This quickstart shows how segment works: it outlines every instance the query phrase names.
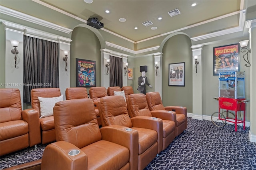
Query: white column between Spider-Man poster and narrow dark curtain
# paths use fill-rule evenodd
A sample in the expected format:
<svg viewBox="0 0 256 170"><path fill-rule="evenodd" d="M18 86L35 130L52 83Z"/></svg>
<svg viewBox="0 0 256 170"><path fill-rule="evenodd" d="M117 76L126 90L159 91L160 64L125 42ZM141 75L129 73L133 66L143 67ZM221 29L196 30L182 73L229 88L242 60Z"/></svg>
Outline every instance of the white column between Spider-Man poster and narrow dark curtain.
<svg viewBox="0 0 256 170"><path fill-rule="evenodd" d="M109 81L109 71L107 74L106 64L107 64L107 59L109 59L110 50L100 49L100 51L101 51L101 86L106 87L107 89L109 87L110 81Z"/></svg>

